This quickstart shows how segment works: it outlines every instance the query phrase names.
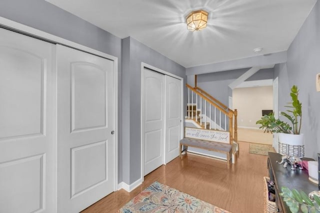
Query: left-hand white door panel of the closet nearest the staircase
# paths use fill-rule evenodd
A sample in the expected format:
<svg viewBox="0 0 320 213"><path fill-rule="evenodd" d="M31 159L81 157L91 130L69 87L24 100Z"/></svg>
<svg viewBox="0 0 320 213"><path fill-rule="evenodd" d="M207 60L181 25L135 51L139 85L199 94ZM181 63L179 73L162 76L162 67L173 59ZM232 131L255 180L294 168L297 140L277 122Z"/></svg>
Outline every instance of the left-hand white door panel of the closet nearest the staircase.
<svg viewBox="0 0 320 213"><path fill-rule="evenodd" d="M164 75L143 70L144 175L163 164Z"/></svg>

